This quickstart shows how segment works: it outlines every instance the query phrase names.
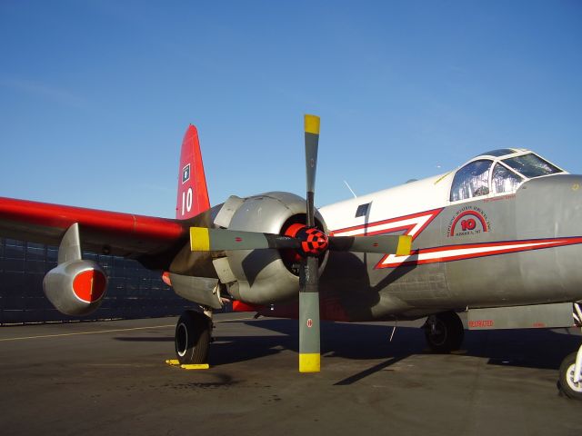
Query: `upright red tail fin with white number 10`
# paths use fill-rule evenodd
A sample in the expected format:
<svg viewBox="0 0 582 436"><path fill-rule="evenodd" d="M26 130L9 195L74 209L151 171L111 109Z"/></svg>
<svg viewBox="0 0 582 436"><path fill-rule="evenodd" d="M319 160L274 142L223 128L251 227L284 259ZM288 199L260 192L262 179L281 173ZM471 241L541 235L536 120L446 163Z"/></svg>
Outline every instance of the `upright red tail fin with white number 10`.
<svg viewBox="0 0 582 436"><path fill-rule="evenodd" d="M178 169L176 218L186 220L210 209L204 164L198 142L198 131L192 124L186 130Z"/></svg>

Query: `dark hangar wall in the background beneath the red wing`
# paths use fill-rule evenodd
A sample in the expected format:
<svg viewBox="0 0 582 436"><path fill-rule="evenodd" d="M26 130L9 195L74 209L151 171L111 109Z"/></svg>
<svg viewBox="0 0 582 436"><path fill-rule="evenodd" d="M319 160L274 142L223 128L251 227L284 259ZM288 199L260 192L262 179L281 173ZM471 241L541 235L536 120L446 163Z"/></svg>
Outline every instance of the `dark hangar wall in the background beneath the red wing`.
<svg viewBox="0 0 582 436"><path fill-rule="evenodd" d="M160 272L123 257L84 253L85 259L99 263L109 277L105 300L88 316L64 315L43 292L43 278L56 266L57 253L56 247L0 239L0 325L153 318L179 315L192 307L162 282Z"/></svg>

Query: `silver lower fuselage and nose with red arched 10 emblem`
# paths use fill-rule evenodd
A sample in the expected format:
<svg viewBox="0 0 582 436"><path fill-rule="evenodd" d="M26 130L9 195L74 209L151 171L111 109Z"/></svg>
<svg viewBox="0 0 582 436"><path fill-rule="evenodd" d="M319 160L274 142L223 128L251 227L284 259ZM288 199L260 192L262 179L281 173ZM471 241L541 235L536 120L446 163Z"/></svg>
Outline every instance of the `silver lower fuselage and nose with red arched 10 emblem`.
<svg viewBox="0 0 582 436"><path fill-rule="evenodd" d="M555 174L528 180L516 193L437 208L413 242L413 250L438 253L430 262L419 253L383 267L382 255L330 253L323 305L357 321L581 300L580 186L581 175ZM371 203L382 208L379 199ZM321 212L334 222L326 215L333 209Z"/></svg>

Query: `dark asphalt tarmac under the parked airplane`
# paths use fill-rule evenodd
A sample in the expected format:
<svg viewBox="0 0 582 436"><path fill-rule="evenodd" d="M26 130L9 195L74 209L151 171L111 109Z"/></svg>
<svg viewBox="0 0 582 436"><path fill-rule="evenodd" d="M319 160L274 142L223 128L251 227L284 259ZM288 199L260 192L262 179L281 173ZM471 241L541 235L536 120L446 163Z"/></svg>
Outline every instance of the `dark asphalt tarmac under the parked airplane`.
<svg viewBox="0 0 582 436"><path fill-rule="evenodd" d="M322 372L297 372L296 321L216 317L209 370L166 365L175 318L0 328L3 435L569 435L557 392L577 332L467 332L426 351L422 322L322 325Z"/></svg>

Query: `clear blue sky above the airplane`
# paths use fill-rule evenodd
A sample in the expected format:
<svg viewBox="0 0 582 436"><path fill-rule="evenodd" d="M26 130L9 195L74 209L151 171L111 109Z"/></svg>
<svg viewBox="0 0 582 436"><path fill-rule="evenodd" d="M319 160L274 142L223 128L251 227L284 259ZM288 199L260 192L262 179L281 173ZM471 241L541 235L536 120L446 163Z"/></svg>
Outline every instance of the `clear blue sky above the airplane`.
<svg viewBox="0 0 582 436"><path fill-rule="evenodd" d="M0 1L0 195L173 217L196 124L211 203L316 204L527 147L582 173L578 1Z"/></svg>

